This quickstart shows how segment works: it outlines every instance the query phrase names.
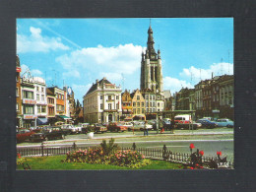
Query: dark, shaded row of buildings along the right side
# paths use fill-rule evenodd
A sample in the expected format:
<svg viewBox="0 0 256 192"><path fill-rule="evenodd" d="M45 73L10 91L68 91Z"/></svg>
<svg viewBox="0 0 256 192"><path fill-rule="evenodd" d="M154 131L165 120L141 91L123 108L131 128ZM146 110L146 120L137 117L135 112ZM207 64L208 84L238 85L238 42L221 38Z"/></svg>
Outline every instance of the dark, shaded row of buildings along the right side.
<svg viewBox="0 0 256 192"><path fill-rule="evenodd" d="M233 81L233 75L216 76L200 81L194 89L181 89L172 98L173 108L195 110L197 118L210 116L233 120Z"/></svg>

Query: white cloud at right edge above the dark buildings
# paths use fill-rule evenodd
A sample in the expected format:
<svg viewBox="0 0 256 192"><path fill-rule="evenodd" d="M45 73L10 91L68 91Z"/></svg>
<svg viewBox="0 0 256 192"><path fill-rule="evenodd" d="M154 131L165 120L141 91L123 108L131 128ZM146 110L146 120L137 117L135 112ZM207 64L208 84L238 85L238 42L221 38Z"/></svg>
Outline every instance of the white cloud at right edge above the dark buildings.
<svg viewBox="0 0 256 192"><path fill-rule="evenodd" d="M191 66L188 69L187 68L183 69L183 71L179 75L185 78L186 80L190 80L190 81L191 81L191 75L192 75L192 82L198 83L200 80L211 79L212 73L214 73L214 76L221 76L224 74L231 75L233 74L233 64L214 63L207 69L200 69L200 68Z"/></svg>

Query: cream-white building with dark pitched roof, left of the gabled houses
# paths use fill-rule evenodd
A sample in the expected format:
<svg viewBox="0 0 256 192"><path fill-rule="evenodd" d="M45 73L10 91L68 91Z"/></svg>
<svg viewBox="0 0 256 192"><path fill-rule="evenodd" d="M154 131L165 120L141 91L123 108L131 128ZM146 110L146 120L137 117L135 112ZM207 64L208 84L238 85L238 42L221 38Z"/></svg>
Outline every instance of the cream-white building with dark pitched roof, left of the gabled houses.
<svg viewBox="0 0 256 192"><path fill-rule="evenodd" d="M121 88L106 78L90 88L84 96L84 121L89 123L119 121L122 115Z"/></svg>

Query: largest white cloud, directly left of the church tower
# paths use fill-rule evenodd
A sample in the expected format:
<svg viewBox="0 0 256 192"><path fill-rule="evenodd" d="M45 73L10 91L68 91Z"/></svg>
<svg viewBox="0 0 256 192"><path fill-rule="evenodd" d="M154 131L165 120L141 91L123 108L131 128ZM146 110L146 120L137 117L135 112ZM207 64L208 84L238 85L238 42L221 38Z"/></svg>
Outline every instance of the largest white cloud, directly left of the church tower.
<svg viewBox="0 0 256 192"><path fill-rule="evenodd" d="M101 79L102 75L117 80L118 74L133 74L141 67L141 52L143 47L133 44L118 46L83 48L56 58L67 71L76 70L83 76L90 76L99 71L102 74L94 77ZM113 75L113 76L112 76Z"/></svg>

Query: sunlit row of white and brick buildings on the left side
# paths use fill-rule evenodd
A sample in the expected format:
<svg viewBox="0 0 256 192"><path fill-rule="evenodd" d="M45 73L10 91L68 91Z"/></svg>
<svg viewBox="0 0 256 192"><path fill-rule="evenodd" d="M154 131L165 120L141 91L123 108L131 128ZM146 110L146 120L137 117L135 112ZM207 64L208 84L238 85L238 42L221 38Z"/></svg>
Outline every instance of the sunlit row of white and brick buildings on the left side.
<svg viewBox="0 0 256 192"><path fill-rule="evenodd" d="M76 106L71 88L47 88L45 80L32 77L27 70L21 77L20 58L16 58L17 126L30 128L42 124L67 122L79 117L81 105ZM83 117L83 114L80 114Z"/></svg>

